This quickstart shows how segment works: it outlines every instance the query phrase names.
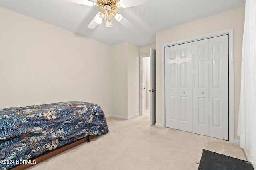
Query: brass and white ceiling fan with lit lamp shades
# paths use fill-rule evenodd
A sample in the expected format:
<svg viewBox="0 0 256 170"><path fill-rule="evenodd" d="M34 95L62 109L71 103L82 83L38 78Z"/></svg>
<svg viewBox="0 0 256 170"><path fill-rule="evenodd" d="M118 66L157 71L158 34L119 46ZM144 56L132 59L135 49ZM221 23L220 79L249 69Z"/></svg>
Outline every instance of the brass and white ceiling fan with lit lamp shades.
<svg viewBox="0 0 256 170"><path fill-rule="evenodd" d="M83 4L87 6L98 6L102 9L101 12L98 12L90 24L87 26L90 29L94 29L97 25L102 23L102 20L107 20L106 26L112 27L111 15L112 17L120 22L123 16L114 11L116 8L127 8L131 6L138 6L142 4L146 4L152 0L97 0L97 2L92 0L68 0L69 2L73 2L76 4Z"/></svg>

